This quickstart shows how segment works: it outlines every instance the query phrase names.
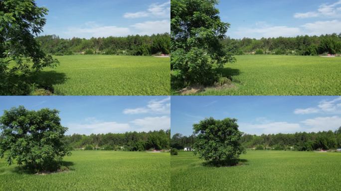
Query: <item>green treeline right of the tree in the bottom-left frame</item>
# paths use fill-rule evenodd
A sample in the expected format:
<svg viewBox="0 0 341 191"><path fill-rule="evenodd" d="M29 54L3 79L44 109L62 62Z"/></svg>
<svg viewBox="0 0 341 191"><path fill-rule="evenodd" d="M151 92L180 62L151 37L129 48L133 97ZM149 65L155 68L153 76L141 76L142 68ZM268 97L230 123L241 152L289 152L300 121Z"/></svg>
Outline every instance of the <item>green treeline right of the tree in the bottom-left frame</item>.
<svg viewBox="0 0 341 191"><path fill-rule="evenodd" d="M169 149L170 133L171 130L91 135L73 134L67 135L65 138L73 149L146 151Z"/></svg>

